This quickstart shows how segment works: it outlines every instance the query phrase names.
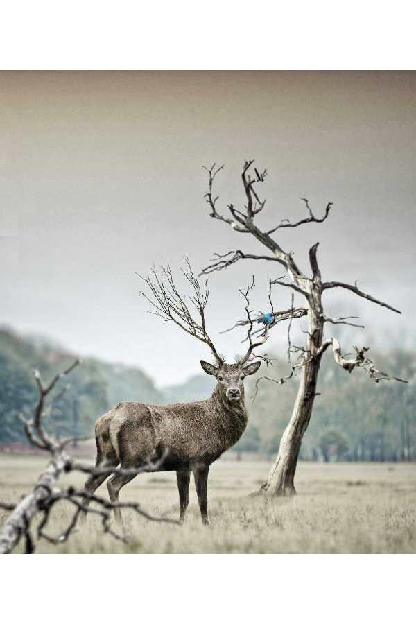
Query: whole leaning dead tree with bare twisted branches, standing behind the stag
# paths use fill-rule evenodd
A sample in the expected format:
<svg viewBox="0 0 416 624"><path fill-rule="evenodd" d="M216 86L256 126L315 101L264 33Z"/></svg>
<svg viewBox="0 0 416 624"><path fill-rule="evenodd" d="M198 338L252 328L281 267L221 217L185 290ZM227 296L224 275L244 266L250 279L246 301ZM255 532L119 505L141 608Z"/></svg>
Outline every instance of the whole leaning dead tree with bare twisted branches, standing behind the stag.
<svg viewBox="0 0 416 624"><path fill-rule="evenodd" d="M243 209L237 209L234 204L229 204L229 214L223 214L218 211L218 195L214 193L214 180L221 169L223 169L223 166L216 168L214 164L211 168L207 169L208 190L205 194L205 199L209 205L210 216L212 218L227 223L234 229L234 232L251 234L261 245L268 249L268 254L245 254L241 250L229 251L225 254L215 254L214 259L209 266L202 270L202 273L208 274L222 270L243 259L268 261L271 266L273 263L277 263L277 265L284 268L285 275L284 277L270 280L270 284L290 288L293 294L302 295L304 300L304 310L306 311L305 314L308 320L306 345L305 347L291 347L291 345L289 345L289 354L291 352L300 354L297 363L293 365L290 374L285 378L274 379L270 376L263 376L263 378L260 378L269 379L276 383L284 383L286 379L290 379L293 376L296 370L302 371L295 406L293 407L293 413L286 427L286 431L281 437L279 453L266 482L261 487L262 492L273 496L295 493L293 481L297 458L299 457L302 438L311 418L313 402L317 395L316 389L320 361L322 355L329 346L333 347L335 361L342 366L344 370L347 370L347 372L352 372L354 368L358 367L365 370L367 374L369 374L370 379L376 383L385 379L404 381L403 379L397 379L396 377L376 370L370 358L365 355L367 347L363 347L362 349L356 348L355 357L347 359L341 353L338 340L335 338L324 340L324 327L327 323L356 325L352 322L353 317L331 318L324 313L322 302L324 291L331 290L332 288L344 288L358 295L358 297L363 297L393 312L400 314L400 311L361 291L356 282L355 284L346 284L343 281L322 281L317 257L319 243L315 243L315 245L309 249L310 272L304 272L297 266L293 254L291 252L286 252L281 244L277 242L275 236L272 236L272 234L276 232L281 233L281 230L286 228L324 222L329 216L332 206L331 202L325 207L323 216L317 217L309 206L309 201L306 198L302 198L306 206L306 216L304 218L294 223L285 218L270 229L260 229L260 227L257 226L255 223L256 217L266 205L266 200L260 198L258 189L259 185L263 184L267 171L265 169L259 172L255 167L253 171L253 163L253 160L246 161L241 173L243 191L245 194L245 205ZM299 318L299 315L297 315L297 318ZM258 383L259 380L257 380L257 386Z"/></svg>

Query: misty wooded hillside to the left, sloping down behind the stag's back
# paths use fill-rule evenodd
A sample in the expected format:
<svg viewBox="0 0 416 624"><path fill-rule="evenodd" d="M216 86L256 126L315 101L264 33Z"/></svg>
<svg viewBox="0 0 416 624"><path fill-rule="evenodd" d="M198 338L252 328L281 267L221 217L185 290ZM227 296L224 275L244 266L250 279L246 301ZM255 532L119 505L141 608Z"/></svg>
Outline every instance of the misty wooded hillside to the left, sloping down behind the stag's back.
<svg viewBox="0 0 416 624"><path fill-rule="evenodd" d="M37 399L33 369L45 381L76 358L40 338L22 338L10 330L0 331L0 442L26 440L17 418L30 415ZM162 392L144 372L134 367L86 358L69 378L59 382L57 392L69 385L62 399L52 405L48 417L51 433L60 437L90 437L94 423L107 408L122 400L159 403Z"/></svg>

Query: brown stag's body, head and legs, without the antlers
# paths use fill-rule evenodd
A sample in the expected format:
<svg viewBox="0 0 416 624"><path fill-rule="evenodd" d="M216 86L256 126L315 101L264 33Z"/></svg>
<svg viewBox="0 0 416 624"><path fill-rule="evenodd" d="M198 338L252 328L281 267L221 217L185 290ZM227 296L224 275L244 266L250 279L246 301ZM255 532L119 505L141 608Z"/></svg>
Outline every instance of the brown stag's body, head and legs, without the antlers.
<svg viewBox="0 0 416 624"><path fill-rule="evenodd" d="M157 471L175 470L180 496L180 519L189 501L189 476L195 478L202 522L207 523L207 479L209 466L243 435L248 413L244 402L243 379L259 367L252 363L223 364L217 368L201 362L218 383L211 397L194 403L155 406L119 403L96 422L96 464L136 469L149 460L162 461ZM94 492L111 474L89 478L85 487ZM111 501L135 475L114 474L107 483ZM119 508L114 510L121 521Z"/></svg>

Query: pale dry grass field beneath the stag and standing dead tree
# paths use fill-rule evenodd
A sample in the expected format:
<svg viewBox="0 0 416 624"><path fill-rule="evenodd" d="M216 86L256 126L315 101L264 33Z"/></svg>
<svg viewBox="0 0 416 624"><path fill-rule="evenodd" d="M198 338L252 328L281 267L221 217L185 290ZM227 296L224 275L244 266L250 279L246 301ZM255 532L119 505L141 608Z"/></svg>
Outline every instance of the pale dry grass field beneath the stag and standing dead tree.
<svg viewBox="0 0 416 624"><path fill-rule="evenodd" d="M45 465L42 456L0 454L0 496L19 499ZM172 526L125 512L128 546L102 535L91 518L67 544L42 541L40 553L415 553L416 465L300 463L298 496L265 501L248 494L266 476L266 462L219 460L211 467L209 514L200 523L191 480L187 521ZM82 478L70 476L80 485ZM107 496L103 485L98 492ZM139 501L149 512L177 517L174 473L139 475L122 490L121 500ZM1 519L6 513L0 511ZM57 506L51 530L69 518Z"/></svg>

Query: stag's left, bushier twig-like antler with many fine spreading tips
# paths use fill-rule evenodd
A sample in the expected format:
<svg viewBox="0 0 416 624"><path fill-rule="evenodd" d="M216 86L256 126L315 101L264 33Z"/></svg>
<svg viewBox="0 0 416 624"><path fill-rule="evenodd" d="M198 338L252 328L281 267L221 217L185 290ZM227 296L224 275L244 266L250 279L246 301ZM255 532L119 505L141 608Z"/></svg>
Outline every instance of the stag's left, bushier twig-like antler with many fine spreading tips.
<svg viewBox="0 0 416 624"><path fill-rule="evenodd" d="M193 273L189 259L185 258L185 262L187 263L187 268L181 268L181 272L191 285L193 295L189 296L189 301L191 301L196 308L199 316L198 320L191 315L187 304L187 296L181 295L178 291L169 265L167 267L162 266L159 272L155 266L153 266L153 277L141 277L141 275L137 273L137 275L146 282L150 290L150 296L142 291L140 291L140 293L155 309L155 312L151 313L159 316L163 320L173 321L184 331L189 333L190 336L198 338L202 343L208 345L216 362L218 365L221 365L224 363L224 360L218 354L205 327L205 306L207 305L209 297L208 280L205 279L201 286Z"/></svg>

